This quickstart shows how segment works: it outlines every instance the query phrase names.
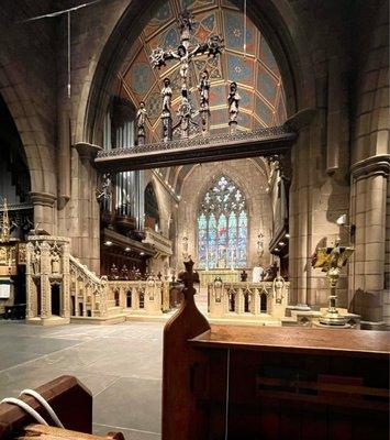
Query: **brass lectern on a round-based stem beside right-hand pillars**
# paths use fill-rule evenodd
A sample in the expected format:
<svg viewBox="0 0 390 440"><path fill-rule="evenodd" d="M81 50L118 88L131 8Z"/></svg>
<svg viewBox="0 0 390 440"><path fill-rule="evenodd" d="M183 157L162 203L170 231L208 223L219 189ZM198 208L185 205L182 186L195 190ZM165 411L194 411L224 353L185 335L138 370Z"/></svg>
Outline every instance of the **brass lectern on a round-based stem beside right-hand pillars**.
<svg viewBox="0 0 390 440"><path fill-rule="evenodd" d="M312 266L321 267L326 272L330 283L331 295L328 299L328 309L325 315L320 318L320 322L326 326L345 326L345 317L338 314L337 304L337 283L342 267L344 267L354 253L353 248L341 246L336 243L333 248L321 248L314 254Z"/></svg>

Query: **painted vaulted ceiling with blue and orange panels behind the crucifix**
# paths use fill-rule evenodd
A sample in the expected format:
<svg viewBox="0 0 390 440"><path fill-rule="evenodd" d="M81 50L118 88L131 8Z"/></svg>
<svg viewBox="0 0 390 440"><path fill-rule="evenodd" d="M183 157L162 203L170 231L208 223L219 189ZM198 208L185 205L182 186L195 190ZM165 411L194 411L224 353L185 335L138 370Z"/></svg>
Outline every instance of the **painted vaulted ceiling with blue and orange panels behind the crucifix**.
<svg viewBox="0 0 390 440"><path fill-rule="evenodd" d="M191 63L191 100L199 108L197 85L199 74L207 68L211 78L211 133L227 132L227 94L230 81L236 81L241 95L238 130L278 125L286 119L285 96L280 73L274 55L259 30L247 20L246 53L244 53L244 15L227 0L169 0L164 2L129 51L118 73L114 95L134 103L143 100L148 112L147 142L160 139L160 89L165 77L172 84L172 107L177 110L180 95L179 63L168 61L160 69L153 68L149 55L155 47L177 48L177 19L187 7L197 22L192 44L205 42L212 34L224 38L225 50L218 58L200 56ZM174 113L176 114L176 112ZM174 120L175 123L175 120Z"/></svg>

